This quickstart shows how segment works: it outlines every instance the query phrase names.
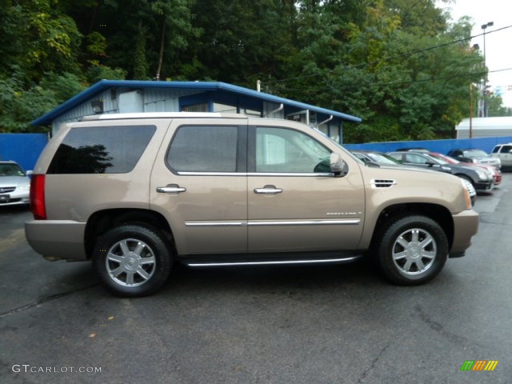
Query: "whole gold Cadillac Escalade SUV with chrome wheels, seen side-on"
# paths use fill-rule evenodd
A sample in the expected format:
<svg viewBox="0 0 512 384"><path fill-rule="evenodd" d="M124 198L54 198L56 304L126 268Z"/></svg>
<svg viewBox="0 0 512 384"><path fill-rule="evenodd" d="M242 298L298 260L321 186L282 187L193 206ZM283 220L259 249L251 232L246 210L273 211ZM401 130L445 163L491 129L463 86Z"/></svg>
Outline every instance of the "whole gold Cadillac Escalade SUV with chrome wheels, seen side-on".
<svg viewBox="0 0 512 384"><path fill-rule="evenodd" d="M91 260L121 296L189 266L372 258L392 283L460 257L478 214L452 175L365 164L301 123L222 113L97 115L64 124L31 184L32 248Z"/></svg>

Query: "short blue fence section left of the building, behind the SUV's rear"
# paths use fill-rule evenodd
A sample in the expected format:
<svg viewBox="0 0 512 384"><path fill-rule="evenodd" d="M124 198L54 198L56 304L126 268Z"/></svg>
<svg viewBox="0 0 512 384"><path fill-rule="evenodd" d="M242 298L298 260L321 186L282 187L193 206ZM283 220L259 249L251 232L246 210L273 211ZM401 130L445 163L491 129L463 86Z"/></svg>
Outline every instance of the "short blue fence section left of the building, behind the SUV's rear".
<svg viewBox="0 0 512 384"><path fill-rule="evenodd" d="M32 170L47 142L42 133L0 133L0 160L14 160Z"/></svg>

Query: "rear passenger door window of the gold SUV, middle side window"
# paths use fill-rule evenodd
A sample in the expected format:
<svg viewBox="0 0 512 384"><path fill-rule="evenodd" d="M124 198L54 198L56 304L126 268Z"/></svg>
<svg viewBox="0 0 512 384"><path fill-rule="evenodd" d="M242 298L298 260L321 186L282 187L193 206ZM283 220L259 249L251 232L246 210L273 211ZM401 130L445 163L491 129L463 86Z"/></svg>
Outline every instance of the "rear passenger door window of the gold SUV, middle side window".
<svg viewBox="0 0 512 384"><path fill-rule="evenodd" d="M167 154L177 172L237 172L238 126L183 125Z"/></svg>

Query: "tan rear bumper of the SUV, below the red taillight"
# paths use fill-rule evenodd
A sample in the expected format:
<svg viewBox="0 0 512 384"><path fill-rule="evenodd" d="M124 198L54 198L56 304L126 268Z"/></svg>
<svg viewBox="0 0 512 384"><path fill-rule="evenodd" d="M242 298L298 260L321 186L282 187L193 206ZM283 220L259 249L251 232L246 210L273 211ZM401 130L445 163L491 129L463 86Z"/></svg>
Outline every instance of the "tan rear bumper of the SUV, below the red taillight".
<svg viewBox="0 0 512 384"><path fill-rule="evenodd" d="M25 237L48 260L87 260L83 244L86 223L71 220L28 220Z"/></svg>

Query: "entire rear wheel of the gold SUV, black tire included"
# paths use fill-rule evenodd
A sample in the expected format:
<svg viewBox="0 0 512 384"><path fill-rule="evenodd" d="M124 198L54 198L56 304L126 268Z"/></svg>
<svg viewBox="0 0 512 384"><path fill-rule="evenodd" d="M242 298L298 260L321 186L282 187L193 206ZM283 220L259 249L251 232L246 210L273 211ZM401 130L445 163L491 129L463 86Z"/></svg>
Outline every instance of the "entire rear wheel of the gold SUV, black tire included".
<svg viewBox="0 0 512 384"><path fill-rule="evenodd" d="M125 224L98 239L93 264L103 285L113 294L140 297L157 292L165 284L172 254L158 230Z"/></svg>

